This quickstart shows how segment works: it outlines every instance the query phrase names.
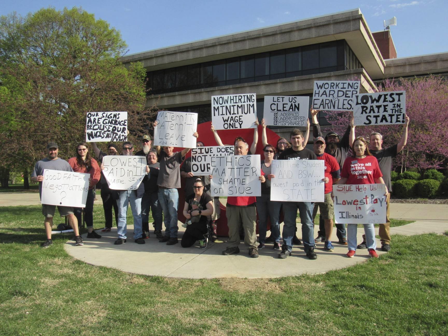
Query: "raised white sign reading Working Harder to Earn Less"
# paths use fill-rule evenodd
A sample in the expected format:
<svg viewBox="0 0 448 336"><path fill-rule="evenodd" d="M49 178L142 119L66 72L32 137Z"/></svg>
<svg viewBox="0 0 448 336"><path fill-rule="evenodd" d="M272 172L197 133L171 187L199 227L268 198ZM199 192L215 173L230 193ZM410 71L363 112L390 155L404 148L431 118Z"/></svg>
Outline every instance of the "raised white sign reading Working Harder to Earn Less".
<svg viewBox="0 0 448 336"><path fill-rule="evenodd" d="M315 81L311 108L327 111L353 111L353 96L359 93L358 81Z"/></svg>

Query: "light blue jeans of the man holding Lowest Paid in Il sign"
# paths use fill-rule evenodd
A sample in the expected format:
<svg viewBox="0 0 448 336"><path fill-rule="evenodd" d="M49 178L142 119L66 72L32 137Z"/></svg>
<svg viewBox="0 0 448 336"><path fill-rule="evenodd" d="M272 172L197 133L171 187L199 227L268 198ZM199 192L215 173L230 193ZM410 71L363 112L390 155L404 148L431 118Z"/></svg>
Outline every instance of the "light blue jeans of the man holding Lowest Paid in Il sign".
<svg viewBox="0 0 448 336"><path fill-rule="evenodd" d="M118 238L126 239L127 226L126 215L128 214L128 205L131 206L132 216L134 217L134 239L142 237L142 198L137 198L134 190L122 190L116 201L118 205Z"/></svg>

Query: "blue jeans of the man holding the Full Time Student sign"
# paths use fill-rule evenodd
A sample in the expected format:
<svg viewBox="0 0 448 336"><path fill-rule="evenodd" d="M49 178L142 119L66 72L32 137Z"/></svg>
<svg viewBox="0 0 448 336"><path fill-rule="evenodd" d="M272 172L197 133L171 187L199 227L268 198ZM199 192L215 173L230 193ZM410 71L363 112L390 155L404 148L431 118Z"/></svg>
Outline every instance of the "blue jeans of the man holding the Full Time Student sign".
<svg viewBox="0 0 448 336"><path fill-rule="evenodd" d="M314 248L313 202L283 202L283 250L293 250L293 237L296 233L297 208L302 222L302 240L305 252Z"/></svg>

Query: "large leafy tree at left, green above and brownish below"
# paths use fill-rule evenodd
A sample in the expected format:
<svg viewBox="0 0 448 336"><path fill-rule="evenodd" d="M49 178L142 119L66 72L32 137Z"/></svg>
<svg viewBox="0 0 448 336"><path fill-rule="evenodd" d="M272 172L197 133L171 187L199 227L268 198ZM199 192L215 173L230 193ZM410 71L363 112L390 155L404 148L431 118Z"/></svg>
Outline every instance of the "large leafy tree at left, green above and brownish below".
<svg viewBox="0 0 448 336"><path fill-rule="evenodd" d="M121 63L126 47L81 8L0 17L0 171L27 177L49 141L73 156L87 112L128 111L131 140L141 134L154 113L145 111L145 69Z"/></svg>

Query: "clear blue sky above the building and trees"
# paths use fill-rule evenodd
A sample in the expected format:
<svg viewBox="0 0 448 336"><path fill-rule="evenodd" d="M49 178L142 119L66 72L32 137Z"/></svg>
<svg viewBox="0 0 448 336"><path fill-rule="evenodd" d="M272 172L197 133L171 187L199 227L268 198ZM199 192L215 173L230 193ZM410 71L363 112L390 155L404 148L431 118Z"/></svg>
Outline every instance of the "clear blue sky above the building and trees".
<svg viewBox="0 0 448 336"><path fill-rule="evenodd" d="M448 52L446 0L15 0L0 14L21 15L44 7L81 6L121 31L128 54L360 8L371 31L391 28L398 57Z"/></svg>

